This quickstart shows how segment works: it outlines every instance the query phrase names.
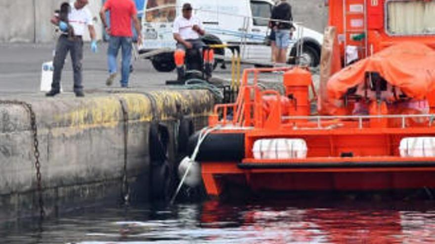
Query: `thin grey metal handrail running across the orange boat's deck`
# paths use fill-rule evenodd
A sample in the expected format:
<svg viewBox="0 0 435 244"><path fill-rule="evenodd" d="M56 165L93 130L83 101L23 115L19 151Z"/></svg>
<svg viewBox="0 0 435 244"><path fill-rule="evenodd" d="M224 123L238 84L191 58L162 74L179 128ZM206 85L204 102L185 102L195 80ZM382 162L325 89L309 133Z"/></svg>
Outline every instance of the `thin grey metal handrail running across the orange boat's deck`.
<svg viewBox="0 0 435 244"><path fill-rule="evenodd" d="M353 120L358 121L358 129L363 128L363 121L368 119L400 119L401 128L406 128L406 119L428 119L428 127L435 122L435 114L381 114L381 115L336 115L336 116L282 116L283 120L309 120L316 121L317 128L322 128L323 121Z"/></svg>

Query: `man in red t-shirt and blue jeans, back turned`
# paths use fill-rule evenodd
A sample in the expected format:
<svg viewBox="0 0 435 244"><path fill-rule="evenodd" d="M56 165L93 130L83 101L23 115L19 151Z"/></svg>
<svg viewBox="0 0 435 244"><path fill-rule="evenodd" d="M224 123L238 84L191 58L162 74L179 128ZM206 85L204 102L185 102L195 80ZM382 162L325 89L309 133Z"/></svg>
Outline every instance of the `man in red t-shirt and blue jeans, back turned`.
<svg viewBox="0 0 435 244"><path fill-rule="evenodd" d="M106 12L110 12L110 27L107 26ZM137 42L140 45L140 24L137 19L137 10L133 0L107 0L100 11L101 21L103 22L106 33L110 35L109 47L107 50L107 62L109 66L109 78L106 85L110 86L116 77L118 51L122 49L122 77L121 87L129 86L130 62L131 62L131 42L133 32L131 22L137 35Z"/></svg>

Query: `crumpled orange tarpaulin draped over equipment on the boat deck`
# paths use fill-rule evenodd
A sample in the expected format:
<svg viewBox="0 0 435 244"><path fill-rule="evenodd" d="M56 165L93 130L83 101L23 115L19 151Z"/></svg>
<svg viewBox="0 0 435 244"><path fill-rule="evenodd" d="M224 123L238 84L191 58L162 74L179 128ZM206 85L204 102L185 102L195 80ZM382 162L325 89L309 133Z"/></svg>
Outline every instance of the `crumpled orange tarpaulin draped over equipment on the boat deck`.
<svg viewBox="0 0 435 244"><path fill-rule="evenodd" d="M349 88L364 82L366 72L378 72L410 98L431 100L430 92L435 90L435 50L418 42L388 47L335 73L328 81L329 97L342 98Z"/></svg>

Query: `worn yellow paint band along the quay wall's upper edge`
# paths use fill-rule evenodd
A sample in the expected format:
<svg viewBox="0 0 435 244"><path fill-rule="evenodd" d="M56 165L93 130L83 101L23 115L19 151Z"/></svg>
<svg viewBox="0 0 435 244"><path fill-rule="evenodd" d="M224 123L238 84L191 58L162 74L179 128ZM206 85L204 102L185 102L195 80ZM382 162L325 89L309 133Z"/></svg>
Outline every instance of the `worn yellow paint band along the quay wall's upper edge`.
<svg viewBox="0 0 435 244"><path fill-rule="evenodd" d="M160 115L158 120L174 119L176 116L176 104L181 105L181 110L197 105L211 103L211 96L207 91L155 91L150 96L155 101L155 107L149 98L143 94L119 93L107 97L87 98L76 109L66 113L54 115L56 123L68 124L69 127L80 130L95 127L116 127L123 121L120 99L127 105L129 120L146 122L153 119L153 109ZM210 106L195 114L207 116L211 113Z"/></svg>

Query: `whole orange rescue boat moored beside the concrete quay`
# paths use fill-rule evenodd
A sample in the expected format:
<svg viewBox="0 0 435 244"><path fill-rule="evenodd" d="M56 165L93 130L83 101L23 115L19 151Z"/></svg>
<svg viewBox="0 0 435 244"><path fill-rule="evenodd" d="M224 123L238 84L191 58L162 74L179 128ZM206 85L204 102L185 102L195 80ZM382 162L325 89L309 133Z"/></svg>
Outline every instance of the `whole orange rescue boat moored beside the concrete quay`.
<svg viewBox="0 0 435 244"><path fill-rule="evenodd" d="M435 187L435 0L325 3L335 36L319 112L308 70L244 70L235 103L191 140L209 195ZM272 71L284 94L259 86Z"/></svg>

